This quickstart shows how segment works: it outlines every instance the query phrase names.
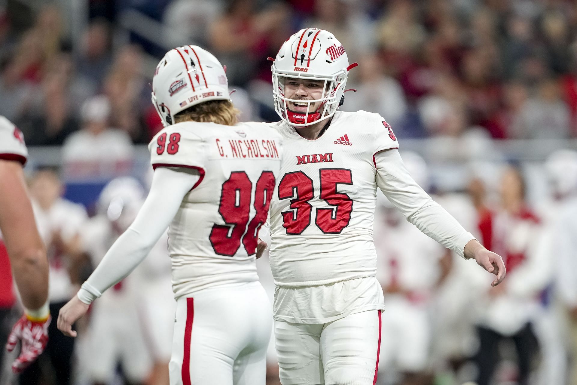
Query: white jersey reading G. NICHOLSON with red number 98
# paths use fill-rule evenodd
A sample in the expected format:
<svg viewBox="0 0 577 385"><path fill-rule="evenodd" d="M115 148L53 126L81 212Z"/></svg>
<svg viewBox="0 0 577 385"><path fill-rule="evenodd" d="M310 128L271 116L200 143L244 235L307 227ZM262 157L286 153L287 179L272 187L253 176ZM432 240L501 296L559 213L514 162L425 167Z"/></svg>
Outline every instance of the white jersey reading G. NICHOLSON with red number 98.
<svg viewBox="0 0 577 385"><path fill-rule="evenodd" d="M168 230L175 297L257 281L258 230L266 222L282 139L264 123L181 122L149 144L152 167L195 169L200 179Z"/></svg>

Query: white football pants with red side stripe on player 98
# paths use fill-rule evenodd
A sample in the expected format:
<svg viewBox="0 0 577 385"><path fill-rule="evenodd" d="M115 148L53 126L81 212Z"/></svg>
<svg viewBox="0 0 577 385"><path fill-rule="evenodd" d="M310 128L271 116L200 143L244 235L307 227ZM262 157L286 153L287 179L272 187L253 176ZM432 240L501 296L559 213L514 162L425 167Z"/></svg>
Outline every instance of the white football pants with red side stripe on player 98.
<svg viewBox="0 0 577 385"><path fill-rule="evenodd" d="M272 309L260 282L177 301L171 385L264 385Z"/></svg>

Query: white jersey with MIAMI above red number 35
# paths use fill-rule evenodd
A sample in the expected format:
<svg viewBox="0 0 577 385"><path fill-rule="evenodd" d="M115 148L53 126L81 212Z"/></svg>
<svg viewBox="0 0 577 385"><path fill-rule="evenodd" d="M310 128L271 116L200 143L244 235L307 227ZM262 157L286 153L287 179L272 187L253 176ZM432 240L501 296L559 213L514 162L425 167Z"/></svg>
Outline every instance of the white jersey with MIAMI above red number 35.
<svg viewBox="0 0 577 385"><path fill-rule="evenodd" d="M279 287L327 285L374 276L376 167L373 155L398 148L379 114L337 111L319 139L284 122L284 160L271 205L271 268Z"/></svg>

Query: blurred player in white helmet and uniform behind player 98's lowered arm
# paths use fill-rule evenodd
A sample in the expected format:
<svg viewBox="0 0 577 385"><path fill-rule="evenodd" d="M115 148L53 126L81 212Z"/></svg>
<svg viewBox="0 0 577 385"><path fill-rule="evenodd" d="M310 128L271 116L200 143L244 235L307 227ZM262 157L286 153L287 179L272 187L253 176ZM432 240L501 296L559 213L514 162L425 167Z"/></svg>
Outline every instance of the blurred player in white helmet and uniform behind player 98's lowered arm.
<svg viewBox="0 0 577 385"><path fill-rule="evenodd" d="M81 231L81 247L93 266L98 266L110 246L128 229L143 200L144 189L132 177L116 178L104 187L98 199L98 214ZM89 356L84 354L83 367L95 385L112 382L118 364L129 384L142 384L147 379L151 359L143 331L145 317L138 309L140 291L147 282L139 279L137 271L93 305L85 346Z"/></svg>

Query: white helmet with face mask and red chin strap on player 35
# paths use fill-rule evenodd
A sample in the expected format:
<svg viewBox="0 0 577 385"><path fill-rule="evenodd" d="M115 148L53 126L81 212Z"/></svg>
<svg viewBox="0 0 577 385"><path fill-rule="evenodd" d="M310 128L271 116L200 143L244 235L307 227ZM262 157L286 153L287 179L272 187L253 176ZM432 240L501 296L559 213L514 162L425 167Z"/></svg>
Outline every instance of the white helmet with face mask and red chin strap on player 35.
<svg viewBox="0 0 577 385"><path fill-rule="evenodd" d="M272 58L269 58L272 59ZM349 70L357 63L349 65L343 45L328 31L319 28L305 28L288 38L280 47L272 63L272 87L275 110L284 122L291 126L304 127L328 119L344 102L344 86ZM286 79L324 80L321 99L295 100L284 97ZM316 111L299 113L288 110L287 102L321 102Z"/></svg>

